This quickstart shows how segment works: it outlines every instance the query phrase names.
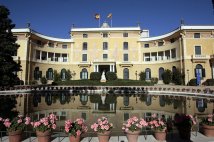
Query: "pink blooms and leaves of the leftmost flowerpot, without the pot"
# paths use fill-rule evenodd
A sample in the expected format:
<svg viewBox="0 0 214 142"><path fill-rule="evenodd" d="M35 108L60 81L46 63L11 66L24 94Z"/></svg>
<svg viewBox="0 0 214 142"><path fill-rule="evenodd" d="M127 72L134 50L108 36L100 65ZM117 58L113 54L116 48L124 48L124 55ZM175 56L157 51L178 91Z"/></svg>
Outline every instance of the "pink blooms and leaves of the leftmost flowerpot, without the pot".
<svg viewBox="0 0 214 142"><path fill-rule="evenodd" d="M18 115L17 117L14 117L12 121L10 121L9 118L2 119L0 117L0 121L4 124L8 132L12 131L23 131L27 125L30 124L30 117L23 117L22 115Z"/></svg>

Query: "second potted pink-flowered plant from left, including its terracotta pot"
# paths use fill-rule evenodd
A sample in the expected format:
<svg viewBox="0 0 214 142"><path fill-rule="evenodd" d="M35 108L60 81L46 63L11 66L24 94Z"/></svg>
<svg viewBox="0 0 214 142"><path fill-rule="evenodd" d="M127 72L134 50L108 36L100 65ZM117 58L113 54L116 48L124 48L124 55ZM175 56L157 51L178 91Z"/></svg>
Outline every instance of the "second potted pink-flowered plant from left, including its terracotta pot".
<svg viewBox="0 0 214 142"><path fill-rule="evenodd" d="M51 132L56 129L56 116L50 114L47 117L43 117L38 121L31 122L36 135L38 142L50 142Z"/></svg>

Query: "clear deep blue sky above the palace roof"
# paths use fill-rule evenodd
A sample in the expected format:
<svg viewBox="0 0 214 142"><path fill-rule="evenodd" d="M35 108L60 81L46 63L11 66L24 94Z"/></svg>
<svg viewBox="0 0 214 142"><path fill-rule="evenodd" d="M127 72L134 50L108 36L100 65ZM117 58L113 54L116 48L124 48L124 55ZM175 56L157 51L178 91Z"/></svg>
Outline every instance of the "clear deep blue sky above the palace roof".
<svg viewBox="0 0 214 142"><path fill-rule="evenodd" d="M140 22L150 36L168 33L186 25L214 25L212 0L1 0L11 12L16 28L31 27L44 35L69 38L76 27L98 27L112 13L113 27L133 27Z"/></svg>

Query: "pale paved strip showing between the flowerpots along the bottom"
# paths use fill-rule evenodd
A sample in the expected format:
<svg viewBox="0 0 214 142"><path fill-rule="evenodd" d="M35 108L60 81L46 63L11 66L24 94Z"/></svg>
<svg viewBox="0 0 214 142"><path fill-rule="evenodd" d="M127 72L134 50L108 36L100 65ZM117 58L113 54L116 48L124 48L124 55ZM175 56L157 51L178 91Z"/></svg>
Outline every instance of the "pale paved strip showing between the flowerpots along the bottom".
<svg viewBox="0 0 214 142"><path fill-rule="evenodd" d="M191 134L192 142L214 142L214 137L206 137L201 133L192 132ZM1 142L9 142L8 137L2 137ZM38 142L36 137L31 137L23 142ZM51 142L69 142L68 137L57 137L53 139ZM81 142L99 142L97 137L86 137L81 140ZM112 136L109 142L128 142L126 136ZM153 135L140 135L138 138L138 142L157 142ZM166 142L185 142L184 140L180 139L178 134L169 134L167 135Z"/></svg>

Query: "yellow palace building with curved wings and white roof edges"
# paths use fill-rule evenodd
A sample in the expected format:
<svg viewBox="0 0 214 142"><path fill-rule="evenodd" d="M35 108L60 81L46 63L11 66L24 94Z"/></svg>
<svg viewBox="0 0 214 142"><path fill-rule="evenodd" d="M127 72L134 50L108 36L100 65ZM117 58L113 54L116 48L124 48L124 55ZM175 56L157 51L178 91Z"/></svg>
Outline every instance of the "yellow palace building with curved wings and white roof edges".
<svg viewBox="0 0 214 142"><path fill-rule="evenodd" d="M13 29L20 45L14 60L20 60L18 76L25 84L40 83L45 76L53 81L57 70L65 79L90 79L91 72L115 72L120 79L158 78L164 70L179 69L185 83L201 76L201 82L214 77L214 26L181 25L170 33L150 37L140 27L72 27L69 39L45 36L30 28Z"/></svg>

